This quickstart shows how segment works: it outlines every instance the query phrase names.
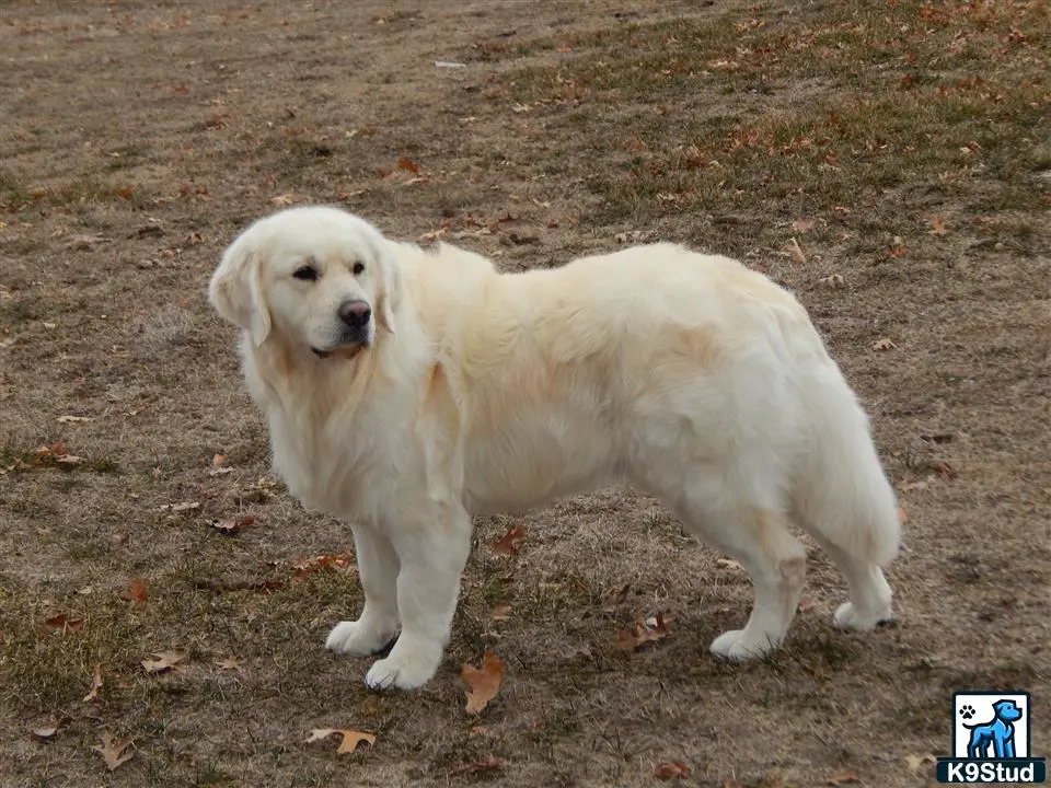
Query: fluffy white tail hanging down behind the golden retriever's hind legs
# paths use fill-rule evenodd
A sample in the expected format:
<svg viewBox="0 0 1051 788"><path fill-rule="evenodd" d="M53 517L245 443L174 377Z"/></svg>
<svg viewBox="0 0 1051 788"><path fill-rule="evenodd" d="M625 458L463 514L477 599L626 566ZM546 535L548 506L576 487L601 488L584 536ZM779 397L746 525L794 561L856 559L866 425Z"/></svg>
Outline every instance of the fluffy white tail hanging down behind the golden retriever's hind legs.
<svg viewBox="0 0 1051 788"><path fill-rule="evenodd" d="M866 563L898 554L898 501L873 442L868 417L835 363L824 355L809 375L810 441L797 468L796 514L811 532Z"/></svg>

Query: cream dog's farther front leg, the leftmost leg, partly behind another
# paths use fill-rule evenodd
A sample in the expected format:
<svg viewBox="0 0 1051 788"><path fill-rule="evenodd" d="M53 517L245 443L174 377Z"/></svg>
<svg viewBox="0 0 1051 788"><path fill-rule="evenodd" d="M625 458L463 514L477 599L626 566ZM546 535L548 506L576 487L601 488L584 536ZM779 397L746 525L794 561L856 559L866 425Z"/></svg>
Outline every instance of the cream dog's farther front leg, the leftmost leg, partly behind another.
<svg viewBox="0 0 1051 788"><path fill-rule="evenodd" d="M365 609L354 622L339 622L325 648L363 657L381 650L397 633L399 560L390 541L366 525L351 525Z"/></svg>

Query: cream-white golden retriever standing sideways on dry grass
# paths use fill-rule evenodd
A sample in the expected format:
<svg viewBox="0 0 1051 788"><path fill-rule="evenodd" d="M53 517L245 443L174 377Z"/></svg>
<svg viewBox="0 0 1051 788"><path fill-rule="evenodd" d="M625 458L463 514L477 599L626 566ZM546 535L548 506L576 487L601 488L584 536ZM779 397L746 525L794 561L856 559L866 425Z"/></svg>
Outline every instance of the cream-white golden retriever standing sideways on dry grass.
<svg viewBox="0 0 1051 788"><path fill-rule="evenodd" d="M626 484L736 558L755 601L712 652L784 639L809 533L845 576L841 628L892 617L897 501L867 415L807 312L759 273L671 243L500 274L337 208L261 218L208 286L241 329L275 472L347 521L365 592L325 646L370 687L440 667L472 515Z"/></svg>

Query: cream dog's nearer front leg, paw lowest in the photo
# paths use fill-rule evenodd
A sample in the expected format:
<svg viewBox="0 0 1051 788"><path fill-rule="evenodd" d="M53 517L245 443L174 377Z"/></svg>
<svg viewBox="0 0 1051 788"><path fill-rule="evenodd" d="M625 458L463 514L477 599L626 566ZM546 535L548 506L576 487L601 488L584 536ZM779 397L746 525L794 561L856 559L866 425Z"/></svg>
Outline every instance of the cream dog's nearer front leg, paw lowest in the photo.
<svg viewBox="0 0 1051 788"><path fill-rule="evenodd" d="M428 503L420 510L429 517L414 517L392 529L391 543L401 561L402 634L390 656L366 675L365 683L372 688L423 686L437 672L449 642L460 577L471 549L471 518L458 503Z"/></svg>

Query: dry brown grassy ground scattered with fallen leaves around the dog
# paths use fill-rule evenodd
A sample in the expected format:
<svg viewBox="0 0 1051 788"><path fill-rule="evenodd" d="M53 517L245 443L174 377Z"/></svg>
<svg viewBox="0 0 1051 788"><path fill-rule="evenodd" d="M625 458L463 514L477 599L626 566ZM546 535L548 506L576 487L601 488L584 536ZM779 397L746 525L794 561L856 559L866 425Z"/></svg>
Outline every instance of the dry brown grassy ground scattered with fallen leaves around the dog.
<svg viewBox="0 0 1051 788"><path fill-rule="evenodd" d="M933 784L966 688L1032 692L1049 754L1049 40L1044 4L1004 0L4 3L0 785L634 786L678 762L896 788ZM438 676L367 691L368 660L322 649L361 604L349 534L268 476L206 301L246 222L305 202L507 270L665 239L792 288L908 513L897 625L833 630L811 549L784 648L717 663L747 579L605 490L480 520ZM667 637L616 648L658 613ZM469 716L486 649L506 681ZM103 734L134 740L112 773Z"/></svg>

